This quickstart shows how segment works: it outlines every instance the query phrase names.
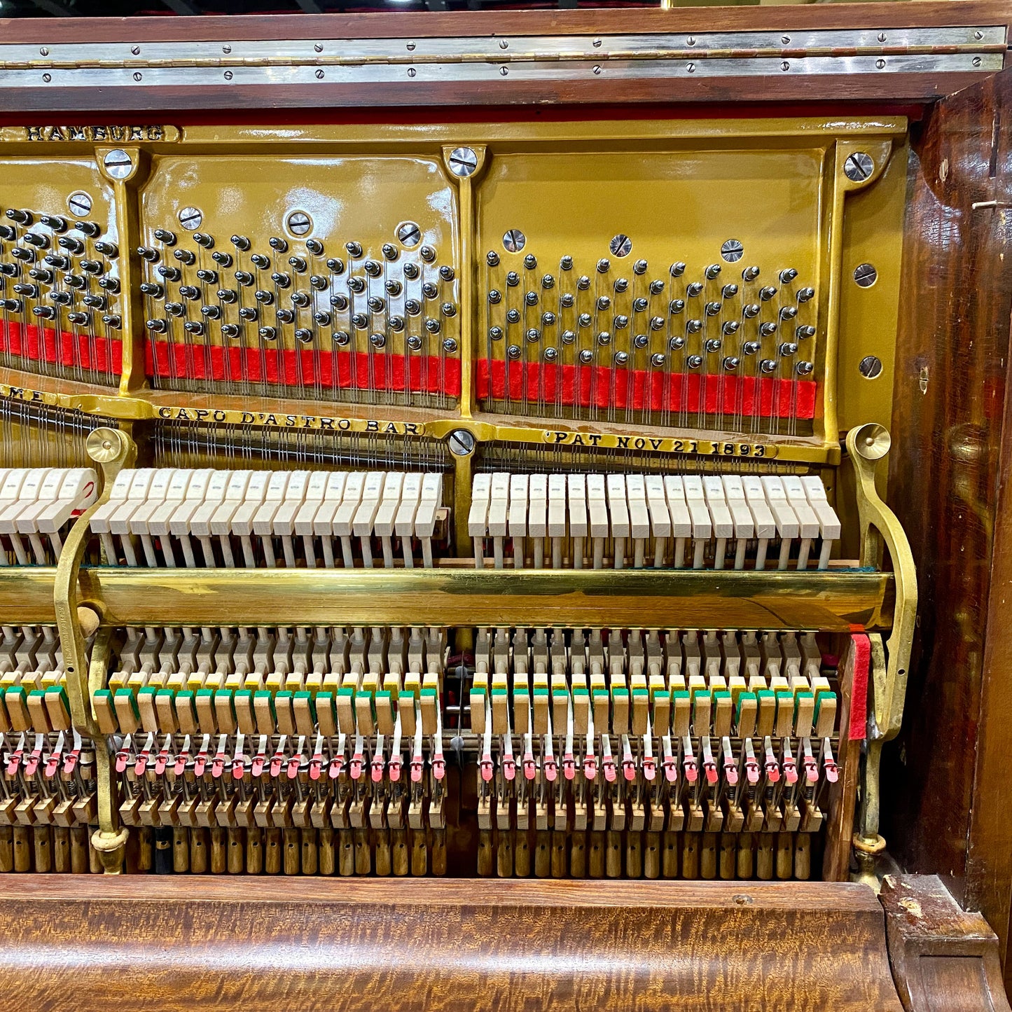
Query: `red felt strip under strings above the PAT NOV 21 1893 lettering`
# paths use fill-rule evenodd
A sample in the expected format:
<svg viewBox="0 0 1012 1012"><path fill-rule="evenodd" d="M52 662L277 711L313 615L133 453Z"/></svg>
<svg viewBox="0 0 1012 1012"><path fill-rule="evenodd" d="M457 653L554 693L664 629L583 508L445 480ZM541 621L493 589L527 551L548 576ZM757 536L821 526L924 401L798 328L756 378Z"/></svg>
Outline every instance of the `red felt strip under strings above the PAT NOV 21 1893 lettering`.
<svg viewBox="0 0 1012 1012"><path fill-rule="evenodd" d="M616 370L604 365L553 362L476 362L480 399L546 401L580 407L632 408L651 411L699 411L706 414L755 415L811 419L816 412L813 381L772 376L664 373L648 369ZM756 396L759 404L756 410Z"/></svg>

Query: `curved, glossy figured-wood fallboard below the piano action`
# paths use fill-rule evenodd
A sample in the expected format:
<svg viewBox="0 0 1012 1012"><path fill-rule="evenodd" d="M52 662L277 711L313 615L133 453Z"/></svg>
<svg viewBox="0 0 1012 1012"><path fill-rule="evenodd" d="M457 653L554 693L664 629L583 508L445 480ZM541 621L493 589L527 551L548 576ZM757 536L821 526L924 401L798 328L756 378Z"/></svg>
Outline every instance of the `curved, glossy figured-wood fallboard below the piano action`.
<svg viewBox="0 0 1012 1012"><path fill-rule="evenodd" d="M850 883L0 880L0 1009L899 1012Z"/></svg>

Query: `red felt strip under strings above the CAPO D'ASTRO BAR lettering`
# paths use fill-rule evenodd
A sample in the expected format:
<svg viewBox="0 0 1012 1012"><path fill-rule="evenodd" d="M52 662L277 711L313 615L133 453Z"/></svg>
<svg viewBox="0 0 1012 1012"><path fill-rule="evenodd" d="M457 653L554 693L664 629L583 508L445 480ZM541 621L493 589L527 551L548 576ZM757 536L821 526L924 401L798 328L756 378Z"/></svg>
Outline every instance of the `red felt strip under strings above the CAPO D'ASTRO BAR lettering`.
<svg viewBox="0 0 1012 1012"><path fill-rule="evenodd" d="M149 341L145 348L145 370L149 376L171 378L460 396L460 359L436 355L405 358L355 351L222 348L169 341L156 341L152 347Z"/></svg>

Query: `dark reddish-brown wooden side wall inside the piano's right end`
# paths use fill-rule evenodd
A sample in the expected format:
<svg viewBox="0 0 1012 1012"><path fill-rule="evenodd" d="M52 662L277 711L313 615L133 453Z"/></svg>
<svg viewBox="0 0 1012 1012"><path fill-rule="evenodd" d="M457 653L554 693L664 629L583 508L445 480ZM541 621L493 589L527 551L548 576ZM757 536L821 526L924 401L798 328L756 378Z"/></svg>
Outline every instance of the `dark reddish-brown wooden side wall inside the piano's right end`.
<svg viewBox="0 0 1012 1012"><path fill-rule="evenodd" d="M1004 944L1012 72L939 103L915 128L913 152L890 489L917 562L920 616L904 730L883 756L882 833L901 866L942 875ZM984 201L1006 206L973 206Z"/></svg>

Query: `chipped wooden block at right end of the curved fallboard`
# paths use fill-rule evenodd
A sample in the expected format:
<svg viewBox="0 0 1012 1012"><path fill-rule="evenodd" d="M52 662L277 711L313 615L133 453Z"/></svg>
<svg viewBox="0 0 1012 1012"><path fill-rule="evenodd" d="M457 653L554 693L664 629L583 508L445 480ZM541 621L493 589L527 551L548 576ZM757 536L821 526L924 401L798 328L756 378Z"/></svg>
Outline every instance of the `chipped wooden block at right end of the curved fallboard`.
<svg viewBox="0 0 1012 1012"><path fill-rule="evenodd" d="M879 899L908 1012L1010 1012L997 936L980 914L959 908L937 875L887 875Z"/></svg>

